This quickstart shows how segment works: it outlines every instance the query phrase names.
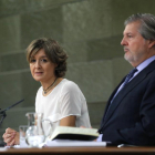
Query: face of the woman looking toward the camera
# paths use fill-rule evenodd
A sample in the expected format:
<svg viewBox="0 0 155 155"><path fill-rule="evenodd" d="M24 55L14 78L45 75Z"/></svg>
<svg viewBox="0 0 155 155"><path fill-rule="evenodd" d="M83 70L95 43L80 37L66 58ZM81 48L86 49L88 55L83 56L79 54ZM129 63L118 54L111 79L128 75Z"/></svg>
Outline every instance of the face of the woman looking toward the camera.
<svg viewBox="0 0 155 155"><path fill-rule="evenodd" d="M30 59L31 74L35 81L40 81L41 83L48 83L55 79L55 66L56 64L49 60L43 49L39 50L37 54Z"/></svg>

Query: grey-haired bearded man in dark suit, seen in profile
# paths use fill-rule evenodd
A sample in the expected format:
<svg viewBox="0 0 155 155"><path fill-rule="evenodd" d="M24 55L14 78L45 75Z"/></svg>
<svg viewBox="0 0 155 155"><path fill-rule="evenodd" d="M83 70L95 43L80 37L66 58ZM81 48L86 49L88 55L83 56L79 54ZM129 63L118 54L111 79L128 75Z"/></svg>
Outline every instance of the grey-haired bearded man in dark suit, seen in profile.
<svg viewBox="0 0 155 155"><path fill-rule="evenodd" d="M114 90L99 130L112 144L155 145L155 17L133 14L121 44L136 72Z"/></svg>

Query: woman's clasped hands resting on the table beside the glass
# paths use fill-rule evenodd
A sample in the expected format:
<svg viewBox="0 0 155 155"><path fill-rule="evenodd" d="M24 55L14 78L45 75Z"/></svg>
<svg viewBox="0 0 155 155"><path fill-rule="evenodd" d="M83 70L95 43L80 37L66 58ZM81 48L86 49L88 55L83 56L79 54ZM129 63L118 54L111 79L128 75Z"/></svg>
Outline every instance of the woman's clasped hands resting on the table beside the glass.
<svg viewBox="0 0 155 155"><path fill-rule="evenodd" d="M19 145L19 133L12 128L7 128L2 137L7 146Z"/></svg>

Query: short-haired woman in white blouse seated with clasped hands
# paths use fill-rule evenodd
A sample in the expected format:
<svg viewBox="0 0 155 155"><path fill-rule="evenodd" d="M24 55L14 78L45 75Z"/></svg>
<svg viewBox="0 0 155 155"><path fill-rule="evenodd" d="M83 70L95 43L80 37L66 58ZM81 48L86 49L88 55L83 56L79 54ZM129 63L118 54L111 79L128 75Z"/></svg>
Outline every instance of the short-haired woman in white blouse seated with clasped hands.
<svg viewBox="0 0 155 155"><path fill-rule="evenodd" d="M85 97L79 86L66 79L68 55L52 39L41 38L30 43L27 60L33 79L41 83L35 97L35 112L43 113L52 123L52 132L61 126L91 127ZM45 132L50 132L46 122ZM19 133L7 128L3 134L7 145L19 144Z"/></svg>

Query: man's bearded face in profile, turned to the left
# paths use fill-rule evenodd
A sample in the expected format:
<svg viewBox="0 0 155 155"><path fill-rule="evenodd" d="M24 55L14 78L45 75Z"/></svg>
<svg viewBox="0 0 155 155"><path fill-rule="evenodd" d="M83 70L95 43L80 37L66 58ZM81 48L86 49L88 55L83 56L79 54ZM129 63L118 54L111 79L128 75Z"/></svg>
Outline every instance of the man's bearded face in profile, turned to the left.
<svg viewBox="0 0 155 155"><path fill-rule="evenodd" d="M137 66L148 59L148 40L145 40L138 32L141 23L138 21L128 23L125 27L121 44L124 46L124 58L133 66Z"/></svg>

